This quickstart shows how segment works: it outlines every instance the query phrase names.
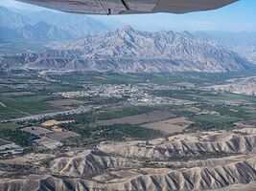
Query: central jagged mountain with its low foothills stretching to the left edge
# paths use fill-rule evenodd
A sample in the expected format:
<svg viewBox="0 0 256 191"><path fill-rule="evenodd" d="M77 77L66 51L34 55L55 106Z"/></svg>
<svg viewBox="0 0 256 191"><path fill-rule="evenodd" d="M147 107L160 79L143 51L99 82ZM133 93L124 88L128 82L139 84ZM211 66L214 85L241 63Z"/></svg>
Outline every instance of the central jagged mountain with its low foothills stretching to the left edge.
<svg viewBox="0 0 256 191"><path fill-rule="evenodd" d="M1 57L1 69L114 73L236 72L250 64L239 54L190 32L115 32L59 42L46 53Z"/></svg>

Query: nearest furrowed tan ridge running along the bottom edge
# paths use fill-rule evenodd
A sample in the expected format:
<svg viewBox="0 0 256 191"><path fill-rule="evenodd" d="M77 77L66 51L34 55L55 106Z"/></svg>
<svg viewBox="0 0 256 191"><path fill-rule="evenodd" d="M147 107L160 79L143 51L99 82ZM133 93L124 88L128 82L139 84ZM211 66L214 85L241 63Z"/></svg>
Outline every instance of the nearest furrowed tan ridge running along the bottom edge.
<svg viewBox="0 0 256 191"><path fill-rule="evenodd" d="M144 168L113 173L107 183L95 180L60 179L53 176L29 176L26 180L0 180L0 188L30 190L208 190L256 180L256 160L249 159L214 168L170 170ZM123 177L121 177L123 175ZM119 176L119 177L118 177Z"/></svg>

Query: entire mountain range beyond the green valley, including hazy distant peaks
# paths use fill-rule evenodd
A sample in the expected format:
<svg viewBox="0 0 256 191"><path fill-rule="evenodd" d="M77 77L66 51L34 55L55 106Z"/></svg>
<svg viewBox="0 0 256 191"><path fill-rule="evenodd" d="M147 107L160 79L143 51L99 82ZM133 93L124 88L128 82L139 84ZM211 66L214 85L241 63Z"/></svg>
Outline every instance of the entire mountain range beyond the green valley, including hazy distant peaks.
<svg viewBox="0 0 256 191"><path fill-rule="evenodd" d="M254 32L114 31L85 15L0 7L2 71L235 72L256 63L255 54Z"/></svg>

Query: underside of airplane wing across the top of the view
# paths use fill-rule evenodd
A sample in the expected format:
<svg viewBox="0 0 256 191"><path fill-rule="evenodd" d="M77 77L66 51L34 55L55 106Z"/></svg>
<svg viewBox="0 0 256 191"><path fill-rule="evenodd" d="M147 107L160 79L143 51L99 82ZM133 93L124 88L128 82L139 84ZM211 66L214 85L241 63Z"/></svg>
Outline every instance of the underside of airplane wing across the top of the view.
<svg viewBox="0 0 256 191"><path fill-rule="evenodd" d="M238 0L17 0L49 9L84 14L186 13L221 8Z"/></svg>

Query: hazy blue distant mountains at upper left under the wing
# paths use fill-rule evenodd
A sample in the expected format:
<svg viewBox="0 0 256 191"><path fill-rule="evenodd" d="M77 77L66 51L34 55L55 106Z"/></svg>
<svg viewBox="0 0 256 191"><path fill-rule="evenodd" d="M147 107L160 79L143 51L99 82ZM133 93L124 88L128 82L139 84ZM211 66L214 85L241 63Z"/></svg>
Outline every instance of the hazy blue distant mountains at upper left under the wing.
<svg viewBox="0 0 256 191"><path fill-rule="evenodd" d="M84 15L51 11L25 13L0 7L0 42L72 40L109 29L104 23Z"/></svg>

